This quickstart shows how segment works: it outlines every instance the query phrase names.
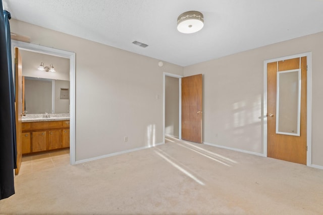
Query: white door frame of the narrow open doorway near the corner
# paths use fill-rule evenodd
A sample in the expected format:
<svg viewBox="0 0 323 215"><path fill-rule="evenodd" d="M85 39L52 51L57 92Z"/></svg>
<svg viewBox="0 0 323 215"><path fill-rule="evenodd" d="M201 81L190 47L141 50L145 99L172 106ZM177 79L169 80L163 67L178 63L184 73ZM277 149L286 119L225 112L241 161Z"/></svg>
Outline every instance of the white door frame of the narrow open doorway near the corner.
<svg viewBox="0 0 323 215"><path fill-rule="evenodd" d="M179 128L178 128L178 138L182 139L182 78L183 76L171 74L171 73L163 73L163 144L165 144L165 79L166 76L173 77L173 78L178 78L179 82Z"/></svg>

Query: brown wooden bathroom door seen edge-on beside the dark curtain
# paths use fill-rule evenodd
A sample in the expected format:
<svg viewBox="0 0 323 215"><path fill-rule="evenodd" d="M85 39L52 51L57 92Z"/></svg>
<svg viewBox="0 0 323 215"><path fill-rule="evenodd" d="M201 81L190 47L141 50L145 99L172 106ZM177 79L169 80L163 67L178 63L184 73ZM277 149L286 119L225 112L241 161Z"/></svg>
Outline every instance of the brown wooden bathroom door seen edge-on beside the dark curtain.
<svg viewBox="0 0 323 215"><path fill-rule="evenodd" d="M16 138L17 138L17 169L15 174L18 175L22 160L22 59L19 49L15 48L15 115L16 115Z"/></svg>

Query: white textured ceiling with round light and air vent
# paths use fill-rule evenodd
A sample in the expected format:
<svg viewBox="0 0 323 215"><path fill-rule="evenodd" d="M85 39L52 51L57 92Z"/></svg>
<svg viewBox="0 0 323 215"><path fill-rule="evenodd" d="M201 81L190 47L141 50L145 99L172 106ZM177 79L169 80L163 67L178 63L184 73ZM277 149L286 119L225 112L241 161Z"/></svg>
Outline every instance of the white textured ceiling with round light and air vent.
<svg viewBox="0 0 323 215"><path fill-rule="evenodd" d="M323 31L322 0L3 2L14 19L181 66ZM204 15L204 28L182 34L177 17L191 10Z"/></svg>

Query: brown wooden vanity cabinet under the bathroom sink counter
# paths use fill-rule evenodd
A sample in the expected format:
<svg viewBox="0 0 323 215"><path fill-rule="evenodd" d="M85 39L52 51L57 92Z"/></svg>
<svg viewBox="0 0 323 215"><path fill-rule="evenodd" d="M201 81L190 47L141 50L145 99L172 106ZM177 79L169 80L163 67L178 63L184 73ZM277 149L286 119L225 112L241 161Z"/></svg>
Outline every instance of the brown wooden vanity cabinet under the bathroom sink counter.
<svg viewBox="0 0 323 215"><path fill-rule="evenodd" d="M22 154L70 147L70 120L22 123Z"/></svg>

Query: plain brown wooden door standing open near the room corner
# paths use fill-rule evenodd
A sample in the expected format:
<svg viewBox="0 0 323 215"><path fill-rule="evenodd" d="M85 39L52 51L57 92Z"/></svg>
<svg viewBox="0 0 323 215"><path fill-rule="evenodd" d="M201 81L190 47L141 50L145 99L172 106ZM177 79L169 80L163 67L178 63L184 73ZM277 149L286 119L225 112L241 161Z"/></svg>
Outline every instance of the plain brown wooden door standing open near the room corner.
<svg viewBox="0 0 323 215"><path fill-rule="evenodd" d="M202 143L202 75L182 78L182 139Z"/></svg>

